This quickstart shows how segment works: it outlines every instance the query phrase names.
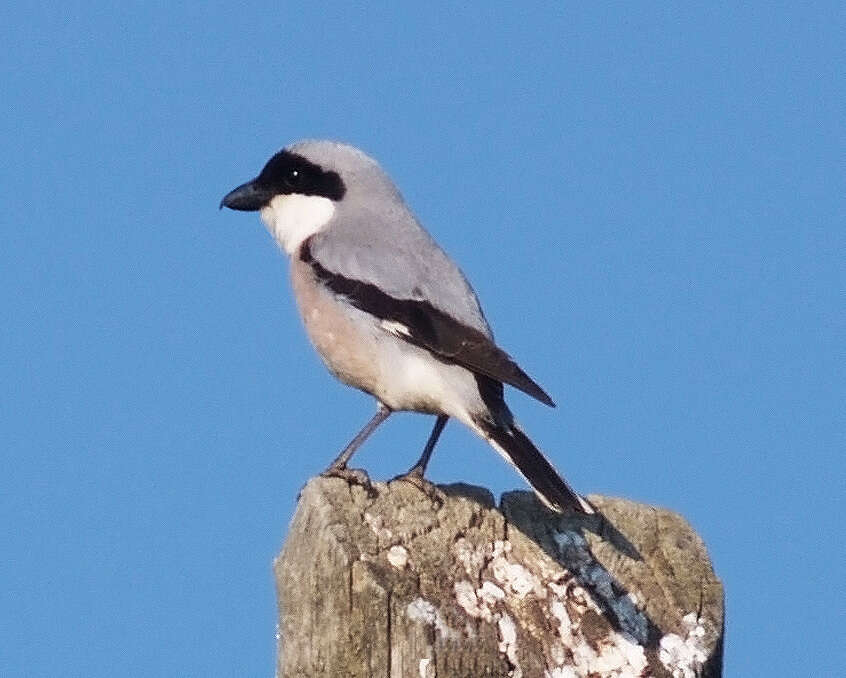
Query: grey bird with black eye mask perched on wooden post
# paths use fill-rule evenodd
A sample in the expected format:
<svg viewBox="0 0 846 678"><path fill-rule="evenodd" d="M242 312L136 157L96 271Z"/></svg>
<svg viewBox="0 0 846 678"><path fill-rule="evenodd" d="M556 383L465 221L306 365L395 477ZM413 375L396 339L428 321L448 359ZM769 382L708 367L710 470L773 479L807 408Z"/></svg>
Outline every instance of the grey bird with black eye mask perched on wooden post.
<svg viewBox="0 0 846 678"><path fill-rule="evenodd" d="M475 291L364 151L330 140L284 147L220 208L258 212L290 258L306 333L329 371L372 395L376 414L324 471L344 476L393 412L436 417L417 463L422 481L452 418L486 440L555 512L595 513L532 443L504 385L549 395L494 341Z"/></svg>

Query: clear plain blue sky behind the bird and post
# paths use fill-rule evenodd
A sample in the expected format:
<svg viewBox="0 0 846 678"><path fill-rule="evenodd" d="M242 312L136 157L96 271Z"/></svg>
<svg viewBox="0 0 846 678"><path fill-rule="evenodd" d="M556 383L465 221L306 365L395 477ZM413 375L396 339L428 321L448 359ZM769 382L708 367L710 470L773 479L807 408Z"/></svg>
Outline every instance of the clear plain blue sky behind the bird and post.
<svg viewBox="0 0 846 678"><path fill-rule="evenodd" d="M842 3L52 4L0 10L0 675L272 675L297 491L373 411L217 209L302 137L392 174L577 488L700 531L727 675L842 672ZM456 424L431 475L523 487Z"/></svg>

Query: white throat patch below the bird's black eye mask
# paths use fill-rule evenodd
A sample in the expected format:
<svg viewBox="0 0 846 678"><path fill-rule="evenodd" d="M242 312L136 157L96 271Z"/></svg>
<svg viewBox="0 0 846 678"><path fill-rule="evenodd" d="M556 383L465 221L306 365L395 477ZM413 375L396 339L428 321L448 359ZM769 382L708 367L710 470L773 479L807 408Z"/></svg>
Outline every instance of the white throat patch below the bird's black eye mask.
<svg viewBox="0 0 846 678"><path fill-rule="evenodd" d="M261 209L261 220L288 254L306 238L323 230L335 214L335 204L319 195L277 195Z"/></svg>

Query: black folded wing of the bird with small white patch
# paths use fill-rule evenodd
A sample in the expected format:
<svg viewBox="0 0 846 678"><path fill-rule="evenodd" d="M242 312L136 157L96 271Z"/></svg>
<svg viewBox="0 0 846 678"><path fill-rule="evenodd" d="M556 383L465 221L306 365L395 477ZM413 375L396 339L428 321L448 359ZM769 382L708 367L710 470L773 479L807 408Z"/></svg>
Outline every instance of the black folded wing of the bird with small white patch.
<svg viewBox="0 0 846 678"><path fill-rule="evenodd" d="M479 330L458 322L428 301L396 299L371 283L346 278L324 268L312 256L308 241L303 244L299 256L324 285L343 295L353 306L382 321L397 323L397 335L402 339L425 348L445 362L509 384L555 407L546 392Z"/></svg>

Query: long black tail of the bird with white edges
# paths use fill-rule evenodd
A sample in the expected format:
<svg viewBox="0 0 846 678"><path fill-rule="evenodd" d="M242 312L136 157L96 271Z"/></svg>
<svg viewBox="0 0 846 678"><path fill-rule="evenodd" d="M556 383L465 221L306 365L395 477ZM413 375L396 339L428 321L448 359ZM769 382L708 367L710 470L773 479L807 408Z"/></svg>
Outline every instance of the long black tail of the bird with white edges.
<svg viewBox="0 0 846 678"><path fill-rule="evenodd" d="M560 513L569 509L579 513L596 513L596 509L576 494L517 424L479 422L478 426L479 432L523 474L535 494L553 511Z"/></svg>

